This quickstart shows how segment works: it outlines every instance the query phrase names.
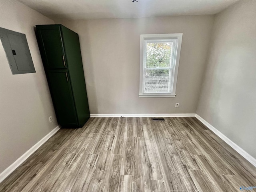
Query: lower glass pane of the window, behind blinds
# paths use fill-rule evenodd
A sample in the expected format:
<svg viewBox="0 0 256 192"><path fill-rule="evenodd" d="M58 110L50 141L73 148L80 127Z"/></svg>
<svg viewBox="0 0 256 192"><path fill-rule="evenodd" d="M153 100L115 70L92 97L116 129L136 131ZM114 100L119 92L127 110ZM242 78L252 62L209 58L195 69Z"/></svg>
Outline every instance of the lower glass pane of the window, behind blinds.
<svg viewBox="0 0 256 192"><path fill-rule="evenodd" d="M170 74L173 70L145 70L144 71L144 93L171 93Z"/></svg>

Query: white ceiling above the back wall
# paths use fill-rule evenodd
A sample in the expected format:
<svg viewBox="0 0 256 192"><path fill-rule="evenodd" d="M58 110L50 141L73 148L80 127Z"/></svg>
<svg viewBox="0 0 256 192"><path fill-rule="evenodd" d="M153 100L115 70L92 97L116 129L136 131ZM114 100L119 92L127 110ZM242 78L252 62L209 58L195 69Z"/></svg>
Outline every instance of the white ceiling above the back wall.
<svg viewBox="0 0 256 192"><path fill-rule="evenodd" d="M216 14L238 0L18 0L49 18L141 18Z"/></svg>

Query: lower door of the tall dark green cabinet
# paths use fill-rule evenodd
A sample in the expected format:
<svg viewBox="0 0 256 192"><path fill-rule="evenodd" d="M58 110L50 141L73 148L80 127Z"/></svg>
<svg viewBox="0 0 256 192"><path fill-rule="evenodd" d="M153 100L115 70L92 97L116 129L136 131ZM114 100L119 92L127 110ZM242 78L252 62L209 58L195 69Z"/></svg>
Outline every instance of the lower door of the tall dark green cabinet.
<svg viewBox="0 0 256 192"><path fill-rule="evenodd" d="M47 74L59 124L61 126L77 125L68 70L48 70Z"/></svg>

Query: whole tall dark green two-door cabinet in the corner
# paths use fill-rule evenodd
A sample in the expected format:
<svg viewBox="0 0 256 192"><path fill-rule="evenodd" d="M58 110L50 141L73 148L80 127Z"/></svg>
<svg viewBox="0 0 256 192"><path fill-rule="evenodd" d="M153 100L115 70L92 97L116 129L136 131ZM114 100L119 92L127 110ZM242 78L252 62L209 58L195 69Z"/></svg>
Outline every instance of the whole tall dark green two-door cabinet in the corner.
<svg viewBox="0 0 256 192"><path fill-rule="evenodd" d="M63 25L37 25L36 34L58 123L82 127L90 118L78 34Z"/></svg>

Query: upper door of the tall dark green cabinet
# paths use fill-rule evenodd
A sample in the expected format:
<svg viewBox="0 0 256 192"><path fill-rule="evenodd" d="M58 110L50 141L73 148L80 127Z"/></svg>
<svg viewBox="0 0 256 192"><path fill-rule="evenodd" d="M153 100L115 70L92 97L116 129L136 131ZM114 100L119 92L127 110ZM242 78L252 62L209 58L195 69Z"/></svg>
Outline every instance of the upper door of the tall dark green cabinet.
<svg viewBox="0 0 256 192"><path fill-rule="evenodd" d="M36 26L43 63L48 69L67 68L61 29L59 25Z"/></svg>

